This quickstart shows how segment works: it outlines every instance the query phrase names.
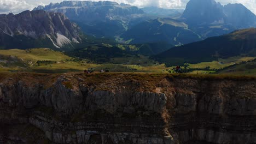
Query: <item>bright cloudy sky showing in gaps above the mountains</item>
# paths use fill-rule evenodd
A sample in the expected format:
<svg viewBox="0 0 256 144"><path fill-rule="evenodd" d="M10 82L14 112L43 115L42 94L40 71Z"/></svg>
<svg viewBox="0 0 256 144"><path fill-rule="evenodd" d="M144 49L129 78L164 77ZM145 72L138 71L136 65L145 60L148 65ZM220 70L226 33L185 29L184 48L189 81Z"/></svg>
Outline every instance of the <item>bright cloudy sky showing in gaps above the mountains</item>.
<svg viewBox="0 0 256 144"><path fill-rule="evenodd" d="M8 13L20 13L24 10L32 10L38 5L48 5L49 3L62 2L63 0L0 0L0 14ZM83 0L81 0L83 1ZM97 1L97 0L91 0ZM101 0L105 1L105 0ZM189 0L108 0L115 1L118 3L126 3L135 5L137 7L160 7L160 8L174 8L174 9L185 9L186 4ZM256 0L216 0L221 4L228 3L242 3L254 14L256 14Z"/></svg>

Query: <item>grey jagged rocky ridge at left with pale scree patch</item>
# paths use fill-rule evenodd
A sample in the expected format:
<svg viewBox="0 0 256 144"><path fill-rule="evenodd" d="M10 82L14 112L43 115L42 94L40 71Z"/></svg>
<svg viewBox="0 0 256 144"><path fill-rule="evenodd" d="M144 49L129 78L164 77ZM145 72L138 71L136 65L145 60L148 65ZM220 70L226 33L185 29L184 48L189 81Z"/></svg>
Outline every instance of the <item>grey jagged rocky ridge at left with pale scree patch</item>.
<svg viewBox="0 0 256 144"><path fill-rule="evenodd" d="M6 49L61 48L79 41L79 27L61 13L36 10L0 15L0 45Z"/></svg>

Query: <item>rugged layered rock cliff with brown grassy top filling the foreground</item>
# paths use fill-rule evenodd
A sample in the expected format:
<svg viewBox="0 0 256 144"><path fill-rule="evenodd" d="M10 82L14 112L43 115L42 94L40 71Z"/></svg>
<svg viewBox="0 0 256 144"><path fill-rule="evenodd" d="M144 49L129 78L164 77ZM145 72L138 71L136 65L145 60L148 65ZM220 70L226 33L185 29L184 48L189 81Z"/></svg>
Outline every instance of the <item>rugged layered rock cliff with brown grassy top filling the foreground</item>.
<svg viewBox="0 0 256 144"><path fill-rule="evenodd" d="M0 75L0 143L256 143L256 80Z"/></svg>

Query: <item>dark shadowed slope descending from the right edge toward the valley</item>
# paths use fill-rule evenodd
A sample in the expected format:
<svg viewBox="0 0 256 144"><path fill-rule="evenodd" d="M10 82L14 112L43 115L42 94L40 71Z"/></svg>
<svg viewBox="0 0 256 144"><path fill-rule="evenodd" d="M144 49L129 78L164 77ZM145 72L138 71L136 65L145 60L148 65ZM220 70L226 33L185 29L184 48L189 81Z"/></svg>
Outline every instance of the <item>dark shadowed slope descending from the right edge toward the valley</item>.
<svg viewBox="0 0 256 144"><path fill-rule="evenodd" d="M167 65L210 62L232 56L256 56L256 28L173 47L153 58Z"/></svg>

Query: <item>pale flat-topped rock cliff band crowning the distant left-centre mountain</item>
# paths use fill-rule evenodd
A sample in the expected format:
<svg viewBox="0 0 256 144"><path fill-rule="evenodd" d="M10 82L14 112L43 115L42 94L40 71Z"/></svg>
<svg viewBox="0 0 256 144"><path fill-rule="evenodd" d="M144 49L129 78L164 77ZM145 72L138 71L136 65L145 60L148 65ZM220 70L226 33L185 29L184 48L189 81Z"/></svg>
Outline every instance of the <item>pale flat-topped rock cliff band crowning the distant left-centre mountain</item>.
<svg viewBox="0 0 256 144"><path fill-rule="evenodd" d="M91 1L63 1L51 3L45 7L39 6L34 10L43 9L65 14L73 21L93 22L120 19L132 14L143 14L143 10L116 2L91 2Z"/></svg>

